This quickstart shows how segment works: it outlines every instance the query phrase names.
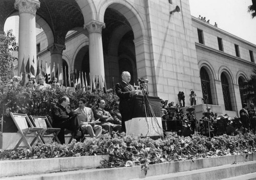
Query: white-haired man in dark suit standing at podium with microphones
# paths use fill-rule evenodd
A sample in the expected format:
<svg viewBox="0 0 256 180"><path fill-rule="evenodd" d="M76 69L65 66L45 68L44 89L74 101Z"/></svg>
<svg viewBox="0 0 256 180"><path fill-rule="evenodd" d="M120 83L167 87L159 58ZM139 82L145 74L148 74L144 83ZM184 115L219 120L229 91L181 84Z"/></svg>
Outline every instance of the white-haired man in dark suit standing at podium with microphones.
<svg viewBox="0 0 256 180"><path fill-rule="evenodd" d="M116 84L116 94L120 98L119 111L122 116L122 131L125 132L125 121L132 119L132 97L137 91L133 85L129 84L131 81L129 72L124 71L121 76L122 81Z"/></svg>

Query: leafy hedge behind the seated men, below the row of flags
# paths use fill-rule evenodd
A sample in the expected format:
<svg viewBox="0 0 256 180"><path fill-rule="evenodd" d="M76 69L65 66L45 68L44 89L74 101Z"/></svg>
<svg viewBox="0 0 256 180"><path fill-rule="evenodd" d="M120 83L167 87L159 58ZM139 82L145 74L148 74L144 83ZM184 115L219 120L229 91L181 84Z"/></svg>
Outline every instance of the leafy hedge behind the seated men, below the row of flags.
<svg viewBox="0 0 256 180"><path fill-rule="evenodd" d="M102 92L83 92L72 91L66 92L63 89L46 89L44 91L25 88L19 84L7 84L0 86L0 110L6 109L15 111L18 106L23 113L34 116L51 115L51 109L58 103L63 96L70 98L70 108L76 109L80 98L86 98L88 107L97 108L98 99L106 101L106 110L114 108L118 97L113 94L104 94Z"/></svg>

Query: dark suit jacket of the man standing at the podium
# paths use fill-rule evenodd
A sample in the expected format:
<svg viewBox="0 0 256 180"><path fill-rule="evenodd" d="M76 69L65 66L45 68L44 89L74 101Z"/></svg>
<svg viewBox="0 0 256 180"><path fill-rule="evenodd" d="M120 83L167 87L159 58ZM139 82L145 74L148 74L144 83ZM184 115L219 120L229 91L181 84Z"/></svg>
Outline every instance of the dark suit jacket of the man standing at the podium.
<svg viewBox="0 0 256 180"><path fill-rule="evenodd" d="M120 98L119 110L122 115L122 121L132 119L133 100L131 91L134 90L133 85L126 84L123 81L116 84L116 94Z"/></svg>

